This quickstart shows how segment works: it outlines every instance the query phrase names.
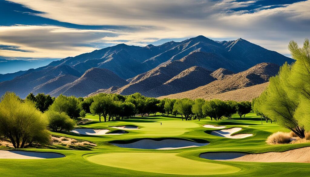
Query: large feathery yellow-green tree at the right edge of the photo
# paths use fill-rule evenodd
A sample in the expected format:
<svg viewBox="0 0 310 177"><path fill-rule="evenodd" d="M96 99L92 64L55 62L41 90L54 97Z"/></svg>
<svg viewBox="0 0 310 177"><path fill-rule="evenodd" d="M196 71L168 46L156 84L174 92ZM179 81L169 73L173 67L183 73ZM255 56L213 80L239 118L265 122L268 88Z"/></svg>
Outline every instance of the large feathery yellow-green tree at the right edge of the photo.
<svg viewBox="0 0 310 177"><path fill-rule="evenodd" d="M291 41L288 48L296 62L284 64L278 75L270 78L266 91L255 100L254 109L304 138L304 131L310 131L309 40L302 48Z"/></svg>

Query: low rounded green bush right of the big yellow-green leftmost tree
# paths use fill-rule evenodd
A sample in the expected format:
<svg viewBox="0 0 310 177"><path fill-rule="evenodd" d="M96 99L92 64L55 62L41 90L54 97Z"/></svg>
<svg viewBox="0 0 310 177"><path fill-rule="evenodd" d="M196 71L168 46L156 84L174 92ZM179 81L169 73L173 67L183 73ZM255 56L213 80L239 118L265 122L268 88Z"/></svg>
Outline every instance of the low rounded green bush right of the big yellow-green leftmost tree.
<svg viewBox="0 0 310 177"><path fill-rule="evenodd" d="M71 131L74 129L75 122L64 112L48 110L44 113L48 120L48 127L53 131Z"/></svg>

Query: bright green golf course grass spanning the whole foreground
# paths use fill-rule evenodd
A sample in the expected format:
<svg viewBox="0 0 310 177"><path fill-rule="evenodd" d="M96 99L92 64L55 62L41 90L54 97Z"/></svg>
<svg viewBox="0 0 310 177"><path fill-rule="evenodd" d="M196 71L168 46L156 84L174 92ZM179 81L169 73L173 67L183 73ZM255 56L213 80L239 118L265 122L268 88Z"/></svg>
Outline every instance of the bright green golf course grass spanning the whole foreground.
<svg viewBox="0 0 310 177"><path fill-rule="evenodd" d="M75 130L87 131L49 133L97 146L88 151L27 148L24 150L58 155L55 158L1 158L1 176L307 176L310 172L310 163L296 163L294 157L285 162L281 159L273 159L273 162L224 160L310 146L310 143L267 144L266 139L272 133L289 130L261 121L255 113L242 118L234 114L232 119L218 121L211 121L209 117L182 121L180 116L150 116L99 122L99 116L91 114L85 119L89 122L76 126ZM125 130L120 132L120 129ZM90 130L108 131L86 134ZM238 138L230 138L234 135ZM204 155L208 153L213 160Z"/></svg>

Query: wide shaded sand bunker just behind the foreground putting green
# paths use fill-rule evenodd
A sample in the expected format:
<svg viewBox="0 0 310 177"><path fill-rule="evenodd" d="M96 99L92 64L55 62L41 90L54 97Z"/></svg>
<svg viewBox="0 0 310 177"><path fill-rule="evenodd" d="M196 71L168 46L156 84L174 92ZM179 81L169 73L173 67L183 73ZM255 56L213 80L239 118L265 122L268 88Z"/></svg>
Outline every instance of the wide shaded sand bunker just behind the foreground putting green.
<svg viewBox="0 0 310 177"><path fill-rule="evenodd" d="M199 146L205 146L209 143L196 143L193 141L182 140L182 139L163 139L155 141L153 139L141 139L139 141L127 144L111 143L120 148L136 148L136 149L182 149L182 148L193 148Z"/></svg>

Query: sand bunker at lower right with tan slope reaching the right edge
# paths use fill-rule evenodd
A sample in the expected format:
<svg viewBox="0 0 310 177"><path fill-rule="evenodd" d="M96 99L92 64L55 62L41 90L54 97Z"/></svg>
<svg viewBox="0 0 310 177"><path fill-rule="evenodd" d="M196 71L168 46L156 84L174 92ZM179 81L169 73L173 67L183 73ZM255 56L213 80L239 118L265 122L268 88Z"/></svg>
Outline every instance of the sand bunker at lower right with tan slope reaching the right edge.
<svg viewBox="0 0 310 177"><path fill-rule="evenodd" d="M201 158L221 161L239 161L239 162L300 162L310 163L310 147L293 149L281 153L204 153Z"/></svg>

